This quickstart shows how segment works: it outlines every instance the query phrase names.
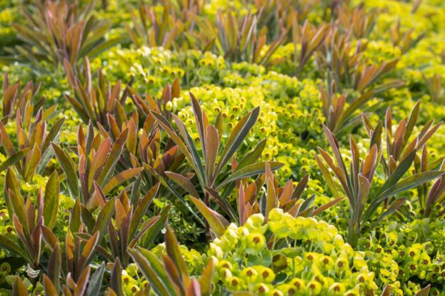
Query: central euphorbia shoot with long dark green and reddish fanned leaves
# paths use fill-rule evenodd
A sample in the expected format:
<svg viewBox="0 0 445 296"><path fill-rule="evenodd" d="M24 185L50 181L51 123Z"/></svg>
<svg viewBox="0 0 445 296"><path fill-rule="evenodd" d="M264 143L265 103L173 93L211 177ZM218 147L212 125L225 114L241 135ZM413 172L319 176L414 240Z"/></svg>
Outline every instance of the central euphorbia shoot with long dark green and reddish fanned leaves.
<svg viewBox="0 0 445 296"><path fill-rule="evenodd" d="M191 170L194 172L194 175L180 175L173 172L166 172L166 175L183 188L186 193L189 193L189 195L194 196L195 198L199 198L200 191L201 194L204 195L202 196L202 199L206 206L210 205L210 199L213 197L216 198L217 202L223 209L229 212L231 207L226 197L234 189L235 181L264 173L265 163L256 162L264 149L264 145L256 146L251 153L244 155L244 158L241 158L239 162L232 160L236 150L239 149L241 143L243 143L249 134L249 131L256 123L256 119L259 116L259 108L255 108L241 118L227 139L224 148L219 152L223 133L223 119L221 113L217 116L215 125L211 125L206 113L199 106L198 100L191 93L190 98L196 119L196 128L199 134L202 155L199 154L194 141L191 139L189 131L187 131L186 126L178 116L174 114L171 115L182 138L176 131L174 131L174 128L164 116L160 113L151 111L151 115L156 120L156 123L158 123L174 143L176 143L179 150L184 153L186 160L188 160L189 165L191 166ZM231 173L226 169L226 164L229 160L232 160ZM281 163L276 162L271 162L269 165L272 170L276 170L282 166ZM199 185L199 191L195 184L190 180L191 177L194 177L195 175L197 179L196 185ZM163 182L166 183L167 180L164 180ZM174 195L179 195L171 185L168 186Z"/></svg>

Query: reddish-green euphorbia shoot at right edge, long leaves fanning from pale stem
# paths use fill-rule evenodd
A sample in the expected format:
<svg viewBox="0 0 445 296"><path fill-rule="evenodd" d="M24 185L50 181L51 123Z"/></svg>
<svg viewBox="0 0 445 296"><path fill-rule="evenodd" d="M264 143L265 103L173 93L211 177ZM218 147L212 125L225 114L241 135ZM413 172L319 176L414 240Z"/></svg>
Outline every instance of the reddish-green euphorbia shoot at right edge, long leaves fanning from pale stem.
<svg viewBox="0 0 445 296"><path fill-rule="evenodd" d="M381 122L379 122L377 126L381 126ZM401 207L406 198L400 197L399 193L404 193L406 190L444 174L441 171L428 171L416 173L401 180L416 157L416 150L411 150L411 152L396 165L393 173L385 180L384 184L377 186L375 183L373 184L372 181L374 180L382 154L378 145L378 141L380 141L379 133L374 132L371 138L371 148L366 153L365 158L360 158L357 143L351 136L351 165L348 170L344 156L341 155L339 150L339 142L336 140L334 134L329 131L329 128L326 126L323 127L329 146L331 146L332 152L334 153L335 162L325 150L318 148L319 153L321 158L324 159L325 163L334 172L334 175L336 175L344 195L346 195L346 198L349 200L349 213L346 214L346 218L349 221L348 240L354 247L357 245L360 233L364 228L370 230L376 227L381 220ZM320 155L316 155L315 157L321 173L331 193L338 195L337 183L334 182L331 173L326 165L324 165ZM388 208L386 208L378 218L374 218L376 212L387 199L389 200Z"/></svg>

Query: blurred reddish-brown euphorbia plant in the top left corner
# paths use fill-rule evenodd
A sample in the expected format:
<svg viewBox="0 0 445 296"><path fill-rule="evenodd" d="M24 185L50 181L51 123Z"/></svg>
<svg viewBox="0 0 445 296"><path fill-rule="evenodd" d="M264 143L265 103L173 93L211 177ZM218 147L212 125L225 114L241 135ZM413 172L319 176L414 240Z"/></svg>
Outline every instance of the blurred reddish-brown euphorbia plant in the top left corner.
<svg viewBox="0 0 445 296"><path fill-rule="evenodd" d="M25 43L19 46L19 53L34 63L47 61L57 66L66 58L74 65L79 58L95 56L117 44L122 39L105 40L111 24L96 19L94 4L39 0L26 6L22 12L28 22L13 24Z"/></svg>

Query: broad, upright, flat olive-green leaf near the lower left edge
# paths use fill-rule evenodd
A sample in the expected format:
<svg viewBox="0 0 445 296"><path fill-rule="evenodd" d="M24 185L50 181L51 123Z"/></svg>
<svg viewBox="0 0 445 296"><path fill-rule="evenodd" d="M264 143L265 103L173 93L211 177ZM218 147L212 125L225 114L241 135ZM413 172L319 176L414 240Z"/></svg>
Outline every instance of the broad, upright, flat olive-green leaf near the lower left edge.
<svg viewBox="0 0 445 296"><path fill-rule="evenodd" d="M49 229L54 228L59 210L59 175L54 170L49 176L44 195L44 223Z"/></svg>

